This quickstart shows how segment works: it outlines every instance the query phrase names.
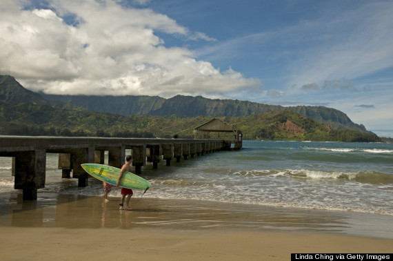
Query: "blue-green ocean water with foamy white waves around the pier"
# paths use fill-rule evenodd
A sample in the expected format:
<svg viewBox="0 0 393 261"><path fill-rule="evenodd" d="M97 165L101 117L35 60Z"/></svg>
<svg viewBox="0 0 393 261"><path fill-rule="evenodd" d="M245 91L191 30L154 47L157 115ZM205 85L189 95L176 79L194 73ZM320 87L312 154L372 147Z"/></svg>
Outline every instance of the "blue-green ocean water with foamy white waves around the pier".
<svg viewBox="0 0 393 261"><path fill-rule="evenodd" d="M11 162L0 157L0 192L14 191ZM157 169L148 164L141 176L152 183L143 197L393 215L393 144L245 141L240 151L171 166L161 161ZM101 195L103 189L93 179L86 188L61 179L57 154L48 154L39 193Z"/></svg>

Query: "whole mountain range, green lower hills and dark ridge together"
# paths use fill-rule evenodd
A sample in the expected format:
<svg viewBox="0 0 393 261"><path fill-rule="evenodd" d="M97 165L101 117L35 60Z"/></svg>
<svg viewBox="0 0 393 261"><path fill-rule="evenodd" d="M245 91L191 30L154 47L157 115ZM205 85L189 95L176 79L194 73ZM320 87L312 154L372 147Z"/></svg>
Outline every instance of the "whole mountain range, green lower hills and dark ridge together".
<svg viewBox="0 0 393 261"><path fill-rule="evenodd" d="M341 111L325 107L296 106L292 109L325 121L328 119L329 126L285 107L256 104L250 101L181 95L171 99L149 96L84 96L83 100L81 96L62 98L66 99L48 101L41 95L23 88L13 77L0 76L0 134L165 138L179 135L183 138L192 138L194 127L217 117L240 128L244 139L380 141L374 133L365 131L364 126L362 128L354 124ZM119 105L121 101L129 98L133 98L128 101L133 103L132 110L139 107L140 114L150 112L150 115L121 115L92 111L97 104L101 107L108 104L108 100ZM76 106L69 99L72 101L81 99L80 102L84 101L84 104L88 104L88 108ZM121 104L117 109L125 111L124 108L128 107ZM189 110L189 113L198 116L189 117L187 113L180 116L159 115L165 114L165 111L172 113L180 109ZM259 110L267 110L267 112L256 113ZM228 115L221 117L199 115L201 113L214 115L222 111L226 111ZM341 130L334 127L339 124L342 125ZM348 124L354 124L358 128L354 129ZM219 138L232 139L232 134L228 134L228 137L222 133L217 135Z"/></svg>

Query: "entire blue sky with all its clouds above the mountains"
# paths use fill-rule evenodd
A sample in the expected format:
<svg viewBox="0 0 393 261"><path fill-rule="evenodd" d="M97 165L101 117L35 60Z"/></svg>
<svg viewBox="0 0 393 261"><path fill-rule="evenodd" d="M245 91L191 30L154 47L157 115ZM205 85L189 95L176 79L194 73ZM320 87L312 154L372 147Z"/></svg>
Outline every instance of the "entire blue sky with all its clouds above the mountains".
<svg viewBox="0 0 393 261"><path fill-rule="evenodd" d="M392 13L390 0L1 0L0 75L57 95L327 106L393 130Z"/></svg>

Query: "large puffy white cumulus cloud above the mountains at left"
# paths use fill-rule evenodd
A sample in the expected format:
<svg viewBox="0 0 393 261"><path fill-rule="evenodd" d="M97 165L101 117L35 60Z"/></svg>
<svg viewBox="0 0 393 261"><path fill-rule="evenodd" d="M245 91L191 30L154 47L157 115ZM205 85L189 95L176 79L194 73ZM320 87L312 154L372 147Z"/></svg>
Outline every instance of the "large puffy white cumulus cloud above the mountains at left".
<svg viewBox="0 0 393 261"><path fill-rule="evenodd" d="M12 75L32 90L170 97L261 86L259 79L199 61L192 50L165 48L155 32L215 39L150 9L124 8L115 0L52 0L41 9L5 1L0 74Z"/></svg>

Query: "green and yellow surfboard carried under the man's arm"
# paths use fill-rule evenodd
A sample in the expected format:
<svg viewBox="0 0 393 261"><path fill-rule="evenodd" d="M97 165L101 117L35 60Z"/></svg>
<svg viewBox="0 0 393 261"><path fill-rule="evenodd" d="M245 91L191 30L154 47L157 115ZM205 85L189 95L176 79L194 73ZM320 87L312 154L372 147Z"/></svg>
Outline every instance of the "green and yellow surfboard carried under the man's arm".
<svg viewBox="0 0 393 261"><path fill-rule="evenodd" d="M120 168L92 163L81 164L81 166L87 173L92 175L92 177L95 177L97 180L101 180L102 182L107 182L116 186L121 171ZM121 177L120 186L127 189L148 190L152 184L142 177L125 171Z"/></svg>

